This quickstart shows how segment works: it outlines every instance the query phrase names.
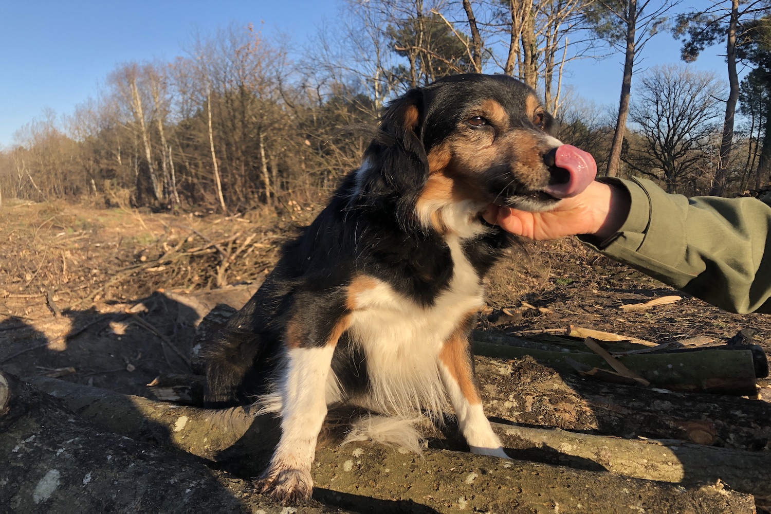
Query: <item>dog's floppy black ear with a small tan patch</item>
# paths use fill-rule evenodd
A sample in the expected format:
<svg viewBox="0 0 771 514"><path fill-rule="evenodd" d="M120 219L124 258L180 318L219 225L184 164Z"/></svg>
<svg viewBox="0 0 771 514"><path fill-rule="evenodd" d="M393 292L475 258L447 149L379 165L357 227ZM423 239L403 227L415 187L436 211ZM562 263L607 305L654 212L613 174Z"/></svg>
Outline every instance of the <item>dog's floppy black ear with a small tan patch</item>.
<svg viewBox="0 0 771 514"><path fill-rule="evenodd" d="M382 140L376 138L367 152L384 185L399 195L421 190L428 179L428 159L420 134L423 104L421 89L410 89L390 102L380 118Z"/></svg>

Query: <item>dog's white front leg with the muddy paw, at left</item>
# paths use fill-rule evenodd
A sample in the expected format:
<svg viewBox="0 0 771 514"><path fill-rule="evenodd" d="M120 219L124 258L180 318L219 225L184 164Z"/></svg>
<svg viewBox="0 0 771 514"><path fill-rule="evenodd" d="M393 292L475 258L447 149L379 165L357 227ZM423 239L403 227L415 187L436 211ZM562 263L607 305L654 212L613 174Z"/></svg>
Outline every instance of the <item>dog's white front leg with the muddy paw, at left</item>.
<svg viewBox="0 0 771 514"><path fill-rule="evenodd" d="M281 440L260 477L262 492L278 502L308 499L316 439L327 415L325 389L335 344L291 348L281 382Z"/></svg>

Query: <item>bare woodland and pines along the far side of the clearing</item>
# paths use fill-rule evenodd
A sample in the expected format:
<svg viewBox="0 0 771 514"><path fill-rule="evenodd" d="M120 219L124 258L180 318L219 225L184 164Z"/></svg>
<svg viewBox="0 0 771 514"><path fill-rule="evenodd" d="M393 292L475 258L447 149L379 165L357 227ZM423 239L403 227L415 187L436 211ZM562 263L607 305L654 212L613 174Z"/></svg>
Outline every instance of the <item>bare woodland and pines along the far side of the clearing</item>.
<svg viewBox="0 0 771 514"><path fill-rule="evenodd" d="M0 198L235 213L301 208L359 165L390 99L461 72L537 89L560 137L601 174L670 192L731 196L771 180L771 0L348 0L308 49L231 25L171 62L124 62L96 98L44 113L0 152ZM645 43L675 35L682 60L638 70ZM709 47L719 73L685 62ZM619 59L620 101L587 105L571 66ZM581 60L581 65L578 64ZM737 69L751 70L738 79ZM52 83L56 87L56 82ZM634 95L630 95L634 91Z"/></svg>

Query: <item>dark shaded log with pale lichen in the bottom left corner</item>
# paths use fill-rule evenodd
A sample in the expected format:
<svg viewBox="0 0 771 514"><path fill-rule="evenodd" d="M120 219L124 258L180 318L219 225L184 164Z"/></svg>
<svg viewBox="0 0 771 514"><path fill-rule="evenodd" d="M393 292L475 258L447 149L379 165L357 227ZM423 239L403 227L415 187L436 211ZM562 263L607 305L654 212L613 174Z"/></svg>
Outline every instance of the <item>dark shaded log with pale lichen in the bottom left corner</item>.
<svg viewBox="0 0 771 514"><path fill-rule="evenodd" d="M100 429L2 373L0 462L2 512L286 512L250 481ZM341 511L317 504L298 512Z"/></svg>

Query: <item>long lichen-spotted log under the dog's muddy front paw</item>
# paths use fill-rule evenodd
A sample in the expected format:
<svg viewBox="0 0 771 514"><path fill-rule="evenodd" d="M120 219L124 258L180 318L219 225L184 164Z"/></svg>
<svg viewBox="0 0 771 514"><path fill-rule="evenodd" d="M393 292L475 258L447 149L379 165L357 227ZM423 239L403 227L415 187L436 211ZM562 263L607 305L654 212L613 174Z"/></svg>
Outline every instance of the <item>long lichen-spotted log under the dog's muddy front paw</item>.
<svg viewBox="0 0 771 514"><path fill-rule="evenodd" d="M164 432L170 444L186 452L217 459L221 466L247 475L261 470L278 440L274 420L253 418L241 408L180 408L109 391L101 394L99 401L89 402L83 394L87 386L56 384L59 381L53 379L35 381L54 384L57 395L79 415L103 422L111 430L136 437L136 428L143 425L153 435ZM123 415L120 409L110 410L120 404L120 398L124 398L123 407L133 406L124 411L131 416ZM709 514L754 509L752 496L715 486L683 489L607 472L436 449L418 456L369 445L322 445L316 452L313 474L315 498L366 511L537 512L550 506L577 513L645 510Z"/></svg>

